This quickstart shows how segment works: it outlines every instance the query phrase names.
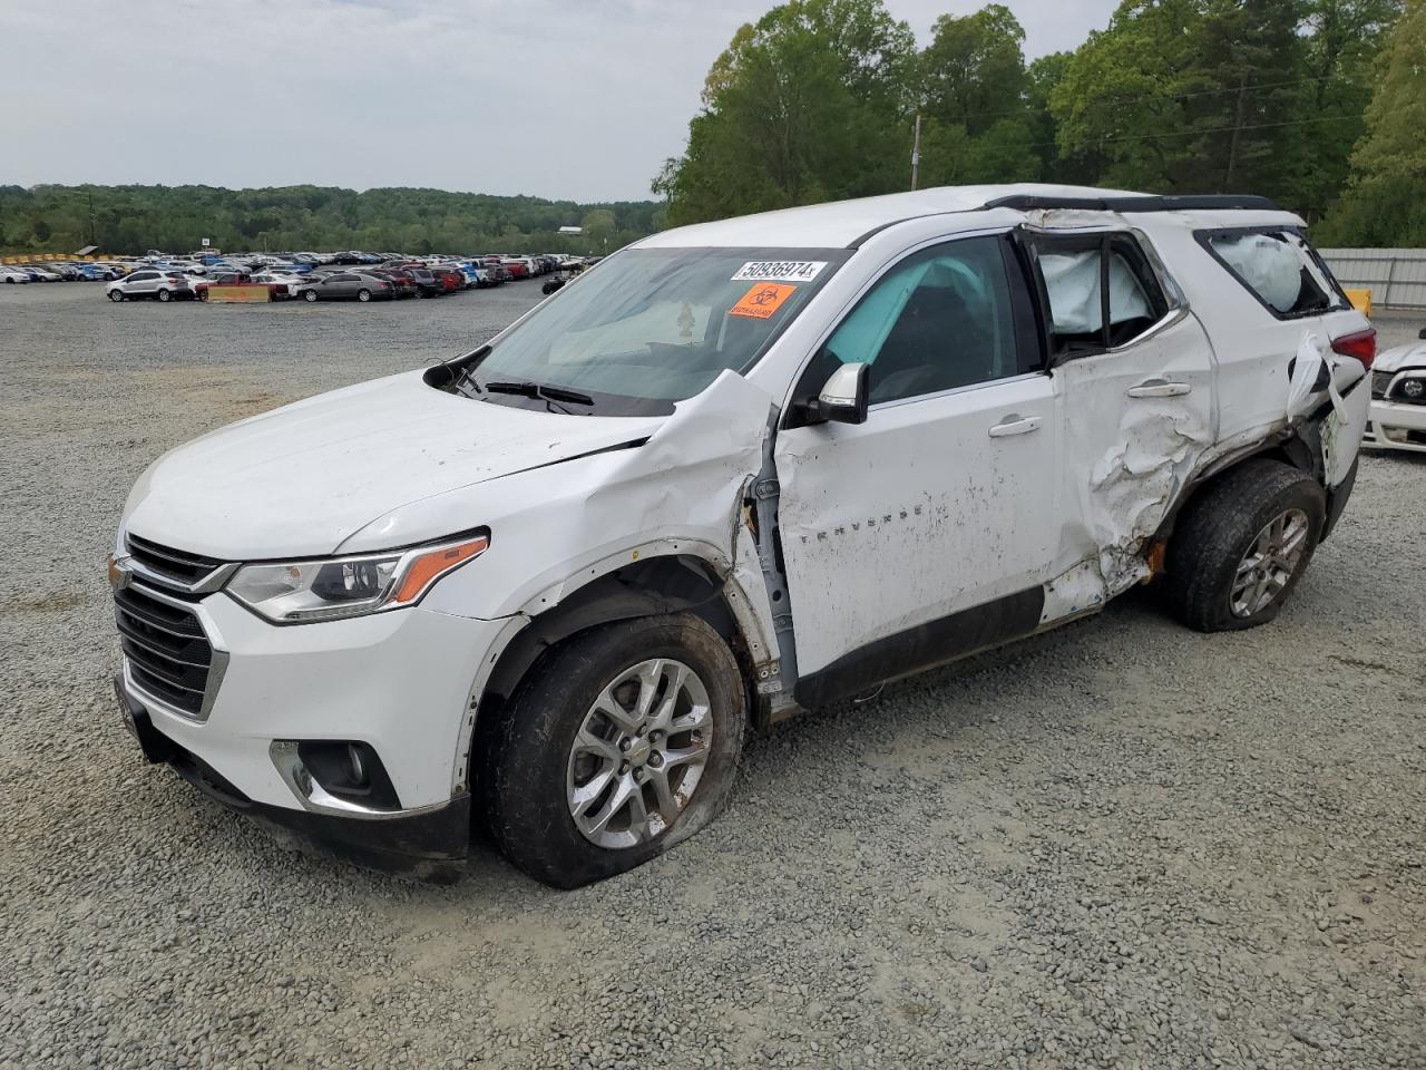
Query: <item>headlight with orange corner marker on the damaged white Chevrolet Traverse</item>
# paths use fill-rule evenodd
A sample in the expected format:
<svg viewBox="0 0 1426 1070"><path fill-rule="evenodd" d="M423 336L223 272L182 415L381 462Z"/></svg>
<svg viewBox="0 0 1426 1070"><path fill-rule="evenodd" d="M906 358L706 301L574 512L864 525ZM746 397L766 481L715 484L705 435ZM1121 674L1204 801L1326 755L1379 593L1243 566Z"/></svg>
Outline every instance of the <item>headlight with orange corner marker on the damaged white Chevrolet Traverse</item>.
<svg viewBox="0 0 1426 1070"><path fill-rule="evenodd" d="M244 565L225 591L274 623L365 616L419 602L441 576L489 545L489 535L476 535L389 554Z"/></svg>

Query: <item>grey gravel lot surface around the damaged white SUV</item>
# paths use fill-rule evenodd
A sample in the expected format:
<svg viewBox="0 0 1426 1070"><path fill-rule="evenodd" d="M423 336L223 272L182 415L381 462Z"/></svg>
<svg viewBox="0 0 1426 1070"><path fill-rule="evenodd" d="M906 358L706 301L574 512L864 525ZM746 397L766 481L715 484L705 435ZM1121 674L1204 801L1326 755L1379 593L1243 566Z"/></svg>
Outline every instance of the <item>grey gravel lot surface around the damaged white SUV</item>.
<svg viewBox="0 0 1426 1070"><path fill-rule="evenodd" d="M1426 1066L1426 458L1363 461L1272 626L1135 595L809 715L579 892L298 855L144 766L103 568L138 472L536 300L0 287L0 1067Z"/></svg>

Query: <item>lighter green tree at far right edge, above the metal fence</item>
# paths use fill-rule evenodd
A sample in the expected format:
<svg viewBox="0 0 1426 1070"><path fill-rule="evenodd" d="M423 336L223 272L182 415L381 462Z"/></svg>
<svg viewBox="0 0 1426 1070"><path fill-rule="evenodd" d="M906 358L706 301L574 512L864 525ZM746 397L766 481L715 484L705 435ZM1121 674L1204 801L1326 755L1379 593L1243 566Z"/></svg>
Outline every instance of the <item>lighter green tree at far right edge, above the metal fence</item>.
<svg viewBox="0 0 1426 1070"><path fill-rule="evenodd" d="M1378 61L1368 134L1323 244L1426 245L1426 0L1407 0Z"/></svg>

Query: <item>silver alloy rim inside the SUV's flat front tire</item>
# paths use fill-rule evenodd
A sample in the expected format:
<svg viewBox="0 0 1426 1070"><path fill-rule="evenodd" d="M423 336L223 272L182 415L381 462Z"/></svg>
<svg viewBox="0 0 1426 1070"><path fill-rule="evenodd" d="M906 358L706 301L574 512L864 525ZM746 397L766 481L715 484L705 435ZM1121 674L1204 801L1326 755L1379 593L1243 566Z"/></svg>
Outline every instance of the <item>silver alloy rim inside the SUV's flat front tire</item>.
<svg viewBox="0 0 1426 1070"><path fill-rule="evenodd" d="M600 847L665 833L687 807L713 742L707 688L683 662L653 658L595 699L569 750L569 815Z"/></svg>

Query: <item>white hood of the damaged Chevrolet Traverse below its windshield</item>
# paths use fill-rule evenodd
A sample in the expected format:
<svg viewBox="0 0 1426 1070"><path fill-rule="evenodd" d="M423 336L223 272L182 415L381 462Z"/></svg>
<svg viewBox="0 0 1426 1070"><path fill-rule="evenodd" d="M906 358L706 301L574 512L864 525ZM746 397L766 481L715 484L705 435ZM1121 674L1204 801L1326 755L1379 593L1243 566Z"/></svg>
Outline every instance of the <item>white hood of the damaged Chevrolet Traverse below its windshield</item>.
<svg viewBox="0 0 1426 1070"><path fill-rule="evenodd" d="M647 438L665 417L579 417L472 401L406 372L319 394L164 454L124 526L224 561L321 556L422 498ZM481 518L452 518L451 532Z"/></svg>

